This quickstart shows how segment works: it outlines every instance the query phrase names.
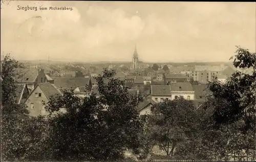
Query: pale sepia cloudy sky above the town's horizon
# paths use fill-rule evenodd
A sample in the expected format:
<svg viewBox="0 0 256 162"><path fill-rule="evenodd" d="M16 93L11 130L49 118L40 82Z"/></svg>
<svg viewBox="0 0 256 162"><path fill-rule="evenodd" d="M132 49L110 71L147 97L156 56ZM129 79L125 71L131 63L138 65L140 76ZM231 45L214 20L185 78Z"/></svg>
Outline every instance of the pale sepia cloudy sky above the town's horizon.
<svg viewBox="0 0 256 162"><path fill-rule="evenodd" d="M17 10L18 6L37 7ZM49 7L72 7L49 10ZM47 7L48 10L39 10ZM15 59L144 62L228 61L255 52L256 3L6 1L1 54Z"/></svg>

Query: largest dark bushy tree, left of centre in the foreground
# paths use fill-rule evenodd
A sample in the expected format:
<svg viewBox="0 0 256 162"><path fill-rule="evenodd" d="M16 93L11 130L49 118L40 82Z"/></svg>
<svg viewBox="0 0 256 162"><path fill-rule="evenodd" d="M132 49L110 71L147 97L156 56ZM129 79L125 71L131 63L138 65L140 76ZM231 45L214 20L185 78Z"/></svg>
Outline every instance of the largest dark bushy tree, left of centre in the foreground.
<svg viewBox="0 0 256 162"><path fill-rule="evenodd" d="M123 81L107 78L114 72L99 75L98 91L80 99L65 91L50 99L46 109L54 112L62 107L67 113L51 114L48 147L51 160L117 160L126 149L139 154L139 133L143 129L136 106L142 96L132 95Z"/></svg>

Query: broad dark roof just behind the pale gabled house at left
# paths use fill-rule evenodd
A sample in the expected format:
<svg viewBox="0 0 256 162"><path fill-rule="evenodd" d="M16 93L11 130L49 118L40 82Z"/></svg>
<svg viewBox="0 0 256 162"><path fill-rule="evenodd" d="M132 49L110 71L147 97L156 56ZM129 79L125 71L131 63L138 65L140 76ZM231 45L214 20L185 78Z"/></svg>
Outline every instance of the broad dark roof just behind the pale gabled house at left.
<svg viewBox="0 0 256 162"><path fill-rule="evenodd" d="M15 68L14 71L21 75L20 78L15 78L15 82L34 82L38 76L35 68Z"/></svg>

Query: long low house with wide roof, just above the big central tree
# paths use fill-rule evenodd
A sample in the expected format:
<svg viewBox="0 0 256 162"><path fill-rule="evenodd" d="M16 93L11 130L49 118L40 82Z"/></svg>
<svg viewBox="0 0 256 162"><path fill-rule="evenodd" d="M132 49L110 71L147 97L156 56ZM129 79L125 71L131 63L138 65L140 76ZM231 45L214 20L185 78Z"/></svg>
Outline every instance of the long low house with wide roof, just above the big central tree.
<svg viewBox="0 0 256 162"><path fill-rule="evenodd" d="M90 77L84 78L67 78L67 77L53 77L54 85L58 88L72 90L78 86L83 87L87 86L88 89L92 88L92 81Z"/></svg>

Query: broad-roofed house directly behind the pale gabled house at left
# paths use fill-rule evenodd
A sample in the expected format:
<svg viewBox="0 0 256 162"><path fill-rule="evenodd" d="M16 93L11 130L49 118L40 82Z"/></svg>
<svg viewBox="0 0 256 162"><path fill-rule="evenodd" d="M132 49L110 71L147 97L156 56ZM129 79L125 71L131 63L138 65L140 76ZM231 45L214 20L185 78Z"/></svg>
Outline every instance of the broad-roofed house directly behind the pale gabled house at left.
<svg viewBox="0 0 256 162"><path fill-rule="evenodd" d="M29 91L31 92L34 87L39 83L48 82L47 76L44 73L44 70L36 70L29 68L15 68L17 74L20 74L21 77L14 78L16 84L27 84ZM48 76L49 81L51 80ZM53 82L51 80L51 82Z"/></svg>

